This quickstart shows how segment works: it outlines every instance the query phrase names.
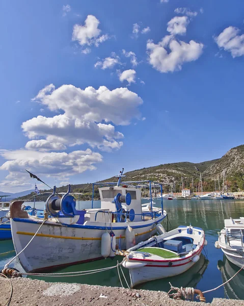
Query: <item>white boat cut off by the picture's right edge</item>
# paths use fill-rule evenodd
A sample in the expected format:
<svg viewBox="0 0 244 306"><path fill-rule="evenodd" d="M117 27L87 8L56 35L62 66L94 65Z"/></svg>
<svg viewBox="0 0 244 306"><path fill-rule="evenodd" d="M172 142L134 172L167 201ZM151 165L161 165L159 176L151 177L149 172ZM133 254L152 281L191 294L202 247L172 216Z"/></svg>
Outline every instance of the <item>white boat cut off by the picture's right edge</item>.
<svg viewBox="0 0 244 306"><path fill-rule="evenodd" d="M244 218L225 219L216 248L221 248L227 259L238 267L244 266Z"/></svg>

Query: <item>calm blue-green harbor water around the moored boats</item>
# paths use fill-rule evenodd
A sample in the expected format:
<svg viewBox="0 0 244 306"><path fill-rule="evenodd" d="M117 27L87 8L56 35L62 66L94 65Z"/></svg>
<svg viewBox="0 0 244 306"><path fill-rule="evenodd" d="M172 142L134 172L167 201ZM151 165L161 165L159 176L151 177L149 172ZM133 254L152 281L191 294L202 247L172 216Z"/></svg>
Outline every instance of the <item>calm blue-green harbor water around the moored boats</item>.
<svg viewBox="0 0 244 306"><path fill-rule="evenodd" d="M154 200L155 201L155 200ZM145 200L147 202L147 200ZM100 202L95 201L94 207L99 207ZM156 200L156 206L160 207L160 200ZM43 209L43 203L37 203L37 208ZM90 208L91 202L79 202L79 209ZM170 285L176 287L195 287L201 291L215 288L233 276L238 268L228 262L220 249L214 247L218 239L217 232L224 227L224 219L244 216L244 201L242 200L167 200L164 201L164 209L167 211L172 229L178 225L188 225L203 228L208 245L205 248L199 262L185 273L168 279L159 279L139 286L140 289L169 291ZM167 225L166 225L167 228ZM12 240L0 241L0 269L15 255ZM81 265L73 265L56 271L85 271L114 266L122 261L122 257L114 260L106 259ZM22 270L20 264L15 262L15 267ZM127 281L129 274L123 269ZM117 269L75 277L38 277L49 282L84 283L90 285L120 286ZM124 286L126 284L124 282ZM241 271L233 280L210 293L206 293L206 301L210 302L213 297L225 297L244 299L244 271Z"/></svg>

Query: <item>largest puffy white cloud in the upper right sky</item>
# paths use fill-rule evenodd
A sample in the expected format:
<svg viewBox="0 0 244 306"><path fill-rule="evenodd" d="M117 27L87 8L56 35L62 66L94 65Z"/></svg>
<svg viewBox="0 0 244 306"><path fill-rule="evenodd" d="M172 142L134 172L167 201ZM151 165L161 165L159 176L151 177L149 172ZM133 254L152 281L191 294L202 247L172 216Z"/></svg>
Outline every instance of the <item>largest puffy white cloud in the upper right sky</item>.
<svg viewBox="0 0 244 306"><path fill-rule="evenodd" d="M194 40L189 43L177 41L172 35L167 35L158 44L148 40L147 50L153 68L160 72L173 72L181 70L185 62L196 61L203 52L203 44Z"/></svg>

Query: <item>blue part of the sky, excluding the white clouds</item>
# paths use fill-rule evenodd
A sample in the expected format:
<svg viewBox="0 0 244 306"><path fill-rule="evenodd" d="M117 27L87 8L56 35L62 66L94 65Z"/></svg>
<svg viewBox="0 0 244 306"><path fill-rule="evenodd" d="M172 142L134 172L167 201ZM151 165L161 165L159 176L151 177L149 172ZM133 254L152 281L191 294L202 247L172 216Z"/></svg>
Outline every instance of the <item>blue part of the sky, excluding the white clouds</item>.
<svg viewBox="0 0 244 306"><path fill-rule="evenodd" d="M69 9L64 10L67 5ZM177 8L187 11L177 14ZM189 11L197 15L187 16ZM25 168L37 172L51 185L56 175L58 185L78 184L105 179L122 167L129 171L163 163L220 158L231 147L243 144L243 11L243 2L227 0L1 2L0 190L17 192L34 187L35 182ZM74 25L84 26L88 15L99 20L99 35L107 34L107 39L98 46L93 42L80 45L78 40L72 40ZM160 72L160 68L150 63L147 43L152 40L158 44L170 35L167 23L175 16L187 16L188 23L185 34L173 33L171 39L185 43L193 40L203 45L202 50L196 60L183 60L181 67ZM140 27L137 35L132 33L135 23ZM150 31L142 34L147 27ZM234 46L228 44L231 39L228 33L223 34L224 44L223 40L218 41L219 35L229 27L233 32L239 29L233 34ZM90 53L84 54L85 48L90 48ZM137 66L123 55L123 49L135 54ZM165 49L170 53L169 45ZM120 64L107 69L94 66L107 57L118 59ZM130 69L136 73L134 83L121 82L121 73ZM51 152L70 154L89 148L100 156L88 162L86 171L82 167L79 171L67 167L67 171L55 173L56 169L65 167L63 161L59 166L54 159L53 163L43 162L42 167L35 167L33 156L33 163L24 158L30 151L24 147L28 141L46 136L28 136L21 124L37 116L52 118L65 114L62 108L51 110L40 99L32 100L49 84L56 89L69 84L82 90L89 86L95 90L105 86L111 91L127 88L143 100L143 104L133 109L140 116L131 115L133 111L124 109L122 103L118 106L121 118L129 118L130 124L106 122L103 118L91 120L96 124L111 124L124 135L123 139L116 139L123 142L117 149L104 151L92 141L76 145L66 141L62 142L65 149L33 150L36 159L41 160ZM67 98L67 105L69 101ZM77 156L70 158L68 163L76 159Z"/></svg>

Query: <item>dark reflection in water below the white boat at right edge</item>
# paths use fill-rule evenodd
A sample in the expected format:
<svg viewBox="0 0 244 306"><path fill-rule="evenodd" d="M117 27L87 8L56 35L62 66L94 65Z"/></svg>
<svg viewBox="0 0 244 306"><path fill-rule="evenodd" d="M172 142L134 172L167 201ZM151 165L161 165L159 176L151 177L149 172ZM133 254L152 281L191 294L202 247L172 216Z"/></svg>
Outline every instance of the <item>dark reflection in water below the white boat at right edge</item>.
<svg viewBox="0 0 244 306"><path fill-rule="evenodd" d="M240 268L232 264L224 255L223 261L218 261L223 283L227 282ZM240 271L229 283L224 286L226 297L231 299L244 298L244 270Z"/></svg>

